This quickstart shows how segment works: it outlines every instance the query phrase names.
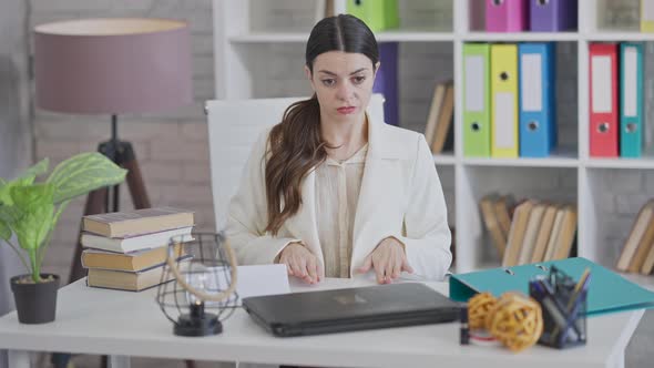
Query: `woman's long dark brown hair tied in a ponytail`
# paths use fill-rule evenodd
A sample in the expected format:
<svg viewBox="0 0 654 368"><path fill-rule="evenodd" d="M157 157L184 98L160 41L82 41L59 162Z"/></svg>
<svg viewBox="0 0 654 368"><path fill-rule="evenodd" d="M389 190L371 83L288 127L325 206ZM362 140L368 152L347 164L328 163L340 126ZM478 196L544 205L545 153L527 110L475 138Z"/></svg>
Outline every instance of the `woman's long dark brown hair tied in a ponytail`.
<svg viewBox="0 0 654 368"><path fill-rule="evenodd" d="M361 20L348 14L325 18L311 30L305 53L311 74L314 60L329 51L362 53L372 65L379 61L372 31ZM268 136L266 232L277 235L282 225L299 211L303 180L327 159L326 146L320 136L320 104L316 95L288 106L282 122L273 127Z"/></svg>

